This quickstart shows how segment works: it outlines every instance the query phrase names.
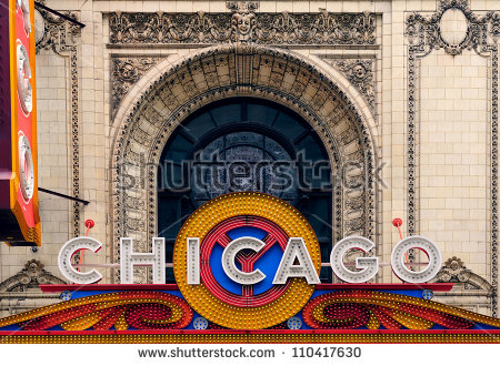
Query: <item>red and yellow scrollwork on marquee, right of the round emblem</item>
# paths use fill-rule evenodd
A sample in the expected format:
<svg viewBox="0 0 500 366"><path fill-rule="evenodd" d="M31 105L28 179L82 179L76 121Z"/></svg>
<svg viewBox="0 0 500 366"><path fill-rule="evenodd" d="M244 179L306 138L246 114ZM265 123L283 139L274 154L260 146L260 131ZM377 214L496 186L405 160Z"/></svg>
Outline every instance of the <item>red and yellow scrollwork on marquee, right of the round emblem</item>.
<svg viewBox="0 0 500 366"><path fill-rule="evenodd" d="M307 325L320 329L500 328L500 321L429 299L376 291L339 291L311 299L302 309Z"/></svg>

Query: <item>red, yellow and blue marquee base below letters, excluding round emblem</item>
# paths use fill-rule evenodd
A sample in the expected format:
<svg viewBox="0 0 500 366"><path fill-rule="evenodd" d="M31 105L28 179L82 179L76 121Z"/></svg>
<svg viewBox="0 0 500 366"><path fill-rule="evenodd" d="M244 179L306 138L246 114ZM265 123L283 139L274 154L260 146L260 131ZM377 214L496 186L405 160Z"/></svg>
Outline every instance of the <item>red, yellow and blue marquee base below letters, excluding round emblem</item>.
<svg viewBox="0 0 500 366"><path fill-rule="evenodd" d="M0 343L500 343L500 319L424 298L451 287L317 285L296 323L228 329L201 317L176 285L43 285L69 299L0 319Z"/></svg>

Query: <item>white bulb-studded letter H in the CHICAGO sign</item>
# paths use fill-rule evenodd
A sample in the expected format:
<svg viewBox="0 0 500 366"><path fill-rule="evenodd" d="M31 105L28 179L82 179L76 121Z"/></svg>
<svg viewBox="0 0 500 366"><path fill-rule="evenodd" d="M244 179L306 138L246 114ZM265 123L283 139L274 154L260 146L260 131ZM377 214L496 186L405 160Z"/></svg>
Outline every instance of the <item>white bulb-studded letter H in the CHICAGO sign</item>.
<svg viewBox="0 0 500 366"><path fill-rule="evenodd" d="M133 241L120 238L120 277L122 284L133 284L133 266L153 267L153 284L164 284L164 237L152 238L152 253L133 253Z"/></svg>

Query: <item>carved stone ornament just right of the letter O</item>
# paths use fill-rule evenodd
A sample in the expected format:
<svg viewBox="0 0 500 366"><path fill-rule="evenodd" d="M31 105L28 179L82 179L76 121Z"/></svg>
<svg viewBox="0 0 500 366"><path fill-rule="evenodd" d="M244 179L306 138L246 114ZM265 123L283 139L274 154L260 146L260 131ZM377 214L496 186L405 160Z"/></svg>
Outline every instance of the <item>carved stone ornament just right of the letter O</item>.
<svg viewBox="0 0 500 366"><path fill-rule="evenodd" d="M462 283L467 289L487 289L489 293L492 291L492 286L488 281L468 270L463 262L456 256L444 262L434 281L442 283Z"/></svg>

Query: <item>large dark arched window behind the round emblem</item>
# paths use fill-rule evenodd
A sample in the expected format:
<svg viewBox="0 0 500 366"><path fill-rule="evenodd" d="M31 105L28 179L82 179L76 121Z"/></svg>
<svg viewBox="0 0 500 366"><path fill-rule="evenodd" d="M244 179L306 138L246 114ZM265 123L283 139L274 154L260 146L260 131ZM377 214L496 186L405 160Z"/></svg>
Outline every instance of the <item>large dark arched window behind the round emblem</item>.
<svg viewBox="0 0 500 366"><path fill-rule="evenodd" d="M332 177L322 142L297 113L252 98L204 106L167 142L158 171L158 235L167 240L167 261L196 209L241 191L269 193L297 207L318 236L322 262L329 262ZM321 279L330 282L331 272L322 270Z"/></svg>

